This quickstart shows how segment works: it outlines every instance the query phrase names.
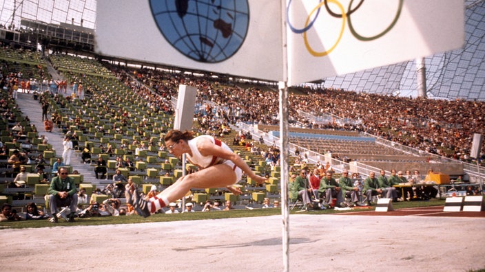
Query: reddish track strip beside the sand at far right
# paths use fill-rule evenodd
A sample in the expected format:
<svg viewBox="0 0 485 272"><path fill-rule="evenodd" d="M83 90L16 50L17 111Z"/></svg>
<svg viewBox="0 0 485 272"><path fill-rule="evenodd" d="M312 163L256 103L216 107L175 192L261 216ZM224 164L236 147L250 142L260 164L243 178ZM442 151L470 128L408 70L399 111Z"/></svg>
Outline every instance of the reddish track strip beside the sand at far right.
<svg viewBox="0 0 485 272"><path fill-rule="evenodd" d="M446 217L485 217L485 212L443 212L444 206L414 207L396 209L389 212L347 212L346 215L360 216L446 216ZM342 215L338 213L338 215Z"/></svg>

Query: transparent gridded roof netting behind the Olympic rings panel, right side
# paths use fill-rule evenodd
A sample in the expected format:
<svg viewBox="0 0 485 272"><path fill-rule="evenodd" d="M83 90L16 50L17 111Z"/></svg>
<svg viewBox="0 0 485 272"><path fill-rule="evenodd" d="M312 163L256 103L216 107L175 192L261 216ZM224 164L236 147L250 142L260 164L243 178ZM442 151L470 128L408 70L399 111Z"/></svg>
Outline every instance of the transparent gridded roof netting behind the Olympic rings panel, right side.
<svg viewBox="0 0 485 272"><path fill-rule="evenodd" d="M485 100L485 1L465 1L461 49L425 58L429 98ZM325 78L324 87L366 93L416 96L415 60Z"/></svg>

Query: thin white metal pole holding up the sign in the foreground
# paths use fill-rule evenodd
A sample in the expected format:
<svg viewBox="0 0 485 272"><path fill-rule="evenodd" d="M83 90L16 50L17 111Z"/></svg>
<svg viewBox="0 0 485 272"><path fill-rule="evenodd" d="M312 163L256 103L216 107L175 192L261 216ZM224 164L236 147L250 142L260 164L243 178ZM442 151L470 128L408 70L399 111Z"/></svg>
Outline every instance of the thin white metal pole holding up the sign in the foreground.
<svg viewBox="0 0 485 272"><path fill-rule="evenodd" d="M288 139L288 88L286 82L280 82L280 166L281 166L281 214L283 271L289 271L289 139Z"/></svg>

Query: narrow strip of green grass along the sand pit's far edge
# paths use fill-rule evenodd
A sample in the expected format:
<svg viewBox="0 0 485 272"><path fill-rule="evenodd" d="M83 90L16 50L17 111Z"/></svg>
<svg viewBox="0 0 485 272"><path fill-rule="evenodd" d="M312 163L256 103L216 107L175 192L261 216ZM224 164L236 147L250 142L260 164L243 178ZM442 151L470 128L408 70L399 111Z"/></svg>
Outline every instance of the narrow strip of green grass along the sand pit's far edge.
<svg viewBox="0 0 485 272"><path fill-rule="evenodd" d="M433 199L431 201L412 201L412 202L398 202L393 203L394 209L402 209L409 207L430 207L444 205L444 199ZM346 212L368 212L375 209L353 209L351 211L338 211L335 209L316 209L307 213L300 212L300 209L295 208L291 214L344 214ZM67 223L64 220L59 220L59 223L50 223L48 220L24 220L19 222L3 222L0 223L0 229L24 229L24 228L39 228L39 227L58 227L58 226L91 226L91 225L119 225L119 224L136 224L136 223L153 223L153 222L169 222L179 220L207 220L207 219L222 219L222 218L243 218L255 216L274 216L281 214L280 209L234 209L231 211L220 212L195 212L191 214L154 214L147 218L141 216L103 216L91 218L76 218L75 223Z"/></svg>

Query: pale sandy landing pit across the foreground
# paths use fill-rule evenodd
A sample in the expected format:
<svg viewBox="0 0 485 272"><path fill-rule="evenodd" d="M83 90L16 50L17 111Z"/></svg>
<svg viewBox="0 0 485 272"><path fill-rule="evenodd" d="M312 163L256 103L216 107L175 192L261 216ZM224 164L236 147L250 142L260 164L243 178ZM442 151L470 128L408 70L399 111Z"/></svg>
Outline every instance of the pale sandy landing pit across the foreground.
<svg viewBox="0 0 485 272"><path fill-rule="evenodd" d="M485 268L485 218L290 217L291 271ZM1 229L0 271L282 271L282 217Z"/></svg>

